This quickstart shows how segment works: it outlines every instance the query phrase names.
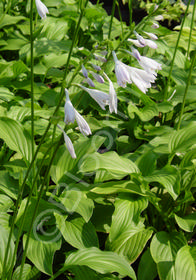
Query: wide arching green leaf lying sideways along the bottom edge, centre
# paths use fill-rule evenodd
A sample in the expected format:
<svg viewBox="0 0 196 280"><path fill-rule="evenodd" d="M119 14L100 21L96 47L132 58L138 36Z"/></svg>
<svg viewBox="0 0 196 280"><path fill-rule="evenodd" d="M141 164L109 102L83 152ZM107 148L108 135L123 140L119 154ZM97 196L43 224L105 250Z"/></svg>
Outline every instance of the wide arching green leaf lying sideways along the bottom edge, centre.
<svg viewBox="0 0 196 280"><path fill-rule="evenodd" d="M113 252L101 251L98 248L80 249L71 253L65 261L65 268L71 266L88 266L99 273L118 272L136 280L135 273L129 263Z"/></svg>

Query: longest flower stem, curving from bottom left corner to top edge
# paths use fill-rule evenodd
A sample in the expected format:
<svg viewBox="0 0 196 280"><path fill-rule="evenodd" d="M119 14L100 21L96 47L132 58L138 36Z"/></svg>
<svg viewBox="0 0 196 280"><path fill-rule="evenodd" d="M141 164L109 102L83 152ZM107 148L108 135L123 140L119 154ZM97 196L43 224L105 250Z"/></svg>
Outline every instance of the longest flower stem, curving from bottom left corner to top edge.
<svg viewBox="0 0 196 280"><path fill-rule="evenodd" d="M24 188L25 188L25 183L26 183L26 180L29 176L29 173L31 171L31 168L33 167L33 164L35 162L35 159L38 155L38 152L41 148L41 145L43 144L45 138L46 138L46 135L52 125L52 119L55 117L55 115L57 114L60 106L61 106L61 102L64 98L64 82L65 82L65 79L66 79L66 76L67 76L67 72L68 72L68 67L69 67L69 62L70 62L70 58L71 58L71 54L72 54L72 51L73 51L73 47L75 45L75 41L76 41L76 38L77 38L77 34L78 34L78 31L79 31L79 28L80 28L80 23L81 23L81 20L82 20L82 17L83 17L83 14L84 14L84 10L86 8L88 4L88 0L86 0L85 2L85 5L84 5L84 9L81 11L80 13L80 17L79 17L79 20L78 20L78 24L76 26L76 29L75 29L75 32L74 32L74 35L73 35L73 39L72 39L72 45L71 45L71 48L70 48L70 51L69 51L69 55L68 55L68 59L67 59L67 63L66 63L66 67L65 67L65 72L64 72L64 77L63 77L63 82L62 82L62 86L61 86L61 95L60 95L60 98L59 98L59 102L57 104L57 107L53 113L53 116L50 118L50 121L48 123L48 126L46 127L46 130L39 142L39 145L34 153L34 156L33 156L33 159L27 169L27 172L26 172L26 175L25 175L25 178L24 178L24 181L23 181L23 184L20 188L20 192L18 194L18 197L17 197L17 200L16 200L16 204L15 204L15 209L14 209L14 213L13 213L13 216L12 216L12 222L11 222L11 228L10 228L10 232L9 232L9 236L8 236L8 242L7 242L7 246L6 246L6 251L5 251L5 257L4 257L4 263L3 263L3 271L2 271L2 279L4 279L3 277L5 277L5 268L6 268L6 263L7 263L7 257L8 257L8 250L9 250L9 246L10 246L10 242L11 242L11 239L12 239L12 235L13 235L13 231L14 231L14 224L15 224L15 220L16 220L16 216L18 214L18 207L21 203L21 200L22 200L22 195L23 195L23 192L24 192ZM69 85L68 85L69 86Z"/></svg>

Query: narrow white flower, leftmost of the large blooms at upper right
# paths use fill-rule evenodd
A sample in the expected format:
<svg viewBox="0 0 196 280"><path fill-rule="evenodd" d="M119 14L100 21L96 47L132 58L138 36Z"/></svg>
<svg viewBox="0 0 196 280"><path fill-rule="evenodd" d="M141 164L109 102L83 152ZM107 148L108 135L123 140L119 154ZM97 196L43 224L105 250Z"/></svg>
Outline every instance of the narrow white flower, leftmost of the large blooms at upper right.
<svg viewBox="0 0 196 280"><path fill-rule="evenodd" d="M127 83L131 83L129 73L125 68L125 64L118 60L114 51L112 52L112 55L115 62L115 74L117 78L117 83L120 87L125 88L127 86Z"/></svg>

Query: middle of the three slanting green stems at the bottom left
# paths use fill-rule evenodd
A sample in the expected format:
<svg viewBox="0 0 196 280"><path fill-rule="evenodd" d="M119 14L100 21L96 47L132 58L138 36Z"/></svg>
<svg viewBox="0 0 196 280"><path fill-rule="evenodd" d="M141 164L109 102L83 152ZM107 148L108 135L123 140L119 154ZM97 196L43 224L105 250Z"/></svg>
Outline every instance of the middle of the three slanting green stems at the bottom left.
<svg viewBox="0 0 196 280"><path fill-rule="evenodd" d="M41 172L41 169L42 169L42 166L44 164L44 161L45 161L45 158L47 157L49 151L52 150L53 148L53 145L54 143L52 143L49 148L47 149L47 151L45 152L43 158L42 158L42 161L39 165L39 168L37 169L37 172L34 176L34 179L33 179L33 183L32 183L32 186L31 186L31 189L30 189L30 192L29 192L29 195L28 195L28 199L27 199L27 203L25 205L25 209L24 209L24 213L23 213L23 216L22 216L22 220L21 220L21 224L20 224L20 227L18 229L18 233L17 233L17 237L16 237L16 242L15 242L15 248L14 248L14 253L13 253L13 257L12 257L12 263L11 263L11 268L9 270L9 277L7 278L8 280L11 280L12 278L12 270L14 268L14 260L15 260L15 257L16 257L16 254L17 254L17 250L18 250L18 244L20 242L20 237L21 237L21 234L22 234L22 231L23 231L23 227L24 227L24 221L25 221L25 218L26 218L26 214L27 214L27 209L28 209L28 205L29 205L29 202L31 200L31 197L33 196L33 191L34 191L34 186L36 185L36 182L37 182L37 178ZM52 158L52 157L51 157Z"/></svg>

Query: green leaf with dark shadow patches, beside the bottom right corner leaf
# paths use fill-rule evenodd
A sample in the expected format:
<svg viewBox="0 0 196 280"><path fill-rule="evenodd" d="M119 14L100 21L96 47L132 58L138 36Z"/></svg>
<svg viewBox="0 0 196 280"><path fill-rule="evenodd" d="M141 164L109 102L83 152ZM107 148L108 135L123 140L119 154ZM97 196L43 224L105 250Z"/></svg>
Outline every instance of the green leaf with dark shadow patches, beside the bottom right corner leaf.
<svg viewBox="0 0 196 280"><path fill-rule="evenodd" d="M150 252L157 264L161 280L176 280L174 263L178 250L186 245L184 236L178 232L158 232L154 235Z"/></svg>

